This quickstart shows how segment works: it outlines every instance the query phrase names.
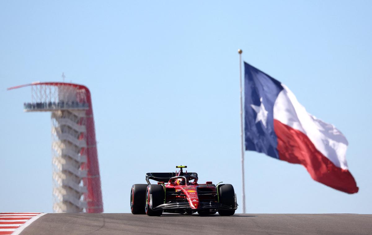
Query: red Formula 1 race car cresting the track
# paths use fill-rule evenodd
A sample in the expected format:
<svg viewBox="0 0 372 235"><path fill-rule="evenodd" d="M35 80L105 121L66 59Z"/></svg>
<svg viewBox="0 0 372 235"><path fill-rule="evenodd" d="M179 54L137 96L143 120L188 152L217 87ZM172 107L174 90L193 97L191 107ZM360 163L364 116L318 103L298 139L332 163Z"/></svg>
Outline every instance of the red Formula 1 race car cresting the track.
<svg viewBox="0 0 372 235"><path fill-rule="evenodd" d="M234 215L238 208L234 187L231 184L207 181L198 184L198 174L184 173L147 173L147 184L134 184L131 189L132 214L160 216L163 212L191 215L212 215L217 211L221 216ZM151 184L150 180L158 181Z"/></svg>

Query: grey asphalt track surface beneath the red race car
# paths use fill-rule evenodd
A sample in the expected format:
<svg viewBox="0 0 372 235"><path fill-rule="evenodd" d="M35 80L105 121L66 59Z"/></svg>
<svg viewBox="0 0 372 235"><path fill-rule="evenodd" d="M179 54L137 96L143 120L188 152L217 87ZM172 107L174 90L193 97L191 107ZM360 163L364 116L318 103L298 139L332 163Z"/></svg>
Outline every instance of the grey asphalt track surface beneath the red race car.
<svg viewBox="0 0 372 235"><path fill-rule="evenodd" d="M161 217L117 214L47 214L21 235L88 234L372 234L372 215L358 214L218 214Z"/></svg>

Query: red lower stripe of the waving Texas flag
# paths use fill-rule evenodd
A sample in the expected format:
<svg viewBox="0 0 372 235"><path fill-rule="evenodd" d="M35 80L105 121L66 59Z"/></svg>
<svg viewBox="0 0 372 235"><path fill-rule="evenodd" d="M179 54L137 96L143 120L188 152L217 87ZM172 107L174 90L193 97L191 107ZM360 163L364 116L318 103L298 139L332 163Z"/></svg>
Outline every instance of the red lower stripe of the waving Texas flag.
<svg viewBox="0 0 372 235"><path fill-rule="evenodd" d="M322 184L345 193L357 193L359 188L348 170L336 167L315 148L311 140L301 131L295 130L274 119L274 130L278 137L279 159L302 164L310 176Z"/></svg>

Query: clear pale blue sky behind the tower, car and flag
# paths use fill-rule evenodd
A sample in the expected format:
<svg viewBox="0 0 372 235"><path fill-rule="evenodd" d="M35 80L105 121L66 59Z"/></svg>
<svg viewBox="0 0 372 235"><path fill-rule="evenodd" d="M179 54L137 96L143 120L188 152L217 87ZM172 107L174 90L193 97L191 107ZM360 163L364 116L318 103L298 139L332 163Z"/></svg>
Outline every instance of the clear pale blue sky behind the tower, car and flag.
<svg viewBox="0 0 372 235"><path fill-rule="evenodd" d="M248 213L372 213L371 1L0 1L0 211L52 212L50 113L32 81L92 93L105 212L147 172L188 165L241 205L239 60L286 84L349 141L349 195L246 152ZM241 212L241 207L238 208Z"/></svg>

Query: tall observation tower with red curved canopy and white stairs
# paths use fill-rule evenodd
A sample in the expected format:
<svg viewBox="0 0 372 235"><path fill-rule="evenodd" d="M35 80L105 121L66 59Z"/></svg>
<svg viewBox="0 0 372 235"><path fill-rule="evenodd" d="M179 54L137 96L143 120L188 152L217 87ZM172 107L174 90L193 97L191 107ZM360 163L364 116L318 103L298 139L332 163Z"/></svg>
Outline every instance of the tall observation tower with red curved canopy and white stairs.
<svg viewBox="0 0 372 235"><path fill-rule="evenodd" d="M54 212L102 213L102 191L90 91L62 82L35 82L25 112L51 112Z"/></svg>

